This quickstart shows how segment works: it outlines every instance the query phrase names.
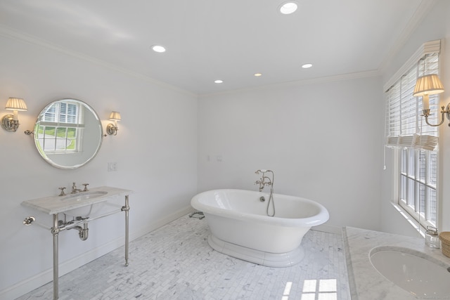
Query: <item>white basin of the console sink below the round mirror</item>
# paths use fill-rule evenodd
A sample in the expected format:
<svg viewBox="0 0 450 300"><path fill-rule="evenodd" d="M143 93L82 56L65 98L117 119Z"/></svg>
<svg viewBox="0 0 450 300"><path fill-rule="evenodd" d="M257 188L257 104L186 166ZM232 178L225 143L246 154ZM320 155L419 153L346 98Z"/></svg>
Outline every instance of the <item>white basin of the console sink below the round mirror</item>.
<svg viewBox="0 0 450 300"><path fill-rule="evenodd" d="M106 194L108 194L108 192L105 192L103 190L80 192L77 194L70 194L65 197L61 197L60 201L83 202L85 200L92 200L94 198L101 197ZM72 218L82 217L83 219L86 219L89 218L91 214L96 214L98 211L100 211L103 205L105 205L105 202L90 204L84 207L79 207L77 209L70 209L68 211L64 211L64 214Z"/></svg>

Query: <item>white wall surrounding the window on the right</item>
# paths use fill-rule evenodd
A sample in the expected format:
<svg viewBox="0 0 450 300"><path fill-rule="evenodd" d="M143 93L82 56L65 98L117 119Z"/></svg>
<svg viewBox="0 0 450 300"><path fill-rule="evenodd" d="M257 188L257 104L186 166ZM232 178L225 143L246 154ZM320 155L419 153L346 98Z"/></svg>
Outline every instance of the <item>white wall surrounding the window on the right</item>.
<svg viewBox="0 0 450 300"><path fill-rule="evenodd" d="M399 49L399 53L392 58L388 64L388 68L383 74L383 84L389 80L395 72L406 63L413 53L426 41L436 39L444 39L444 51L440 56L443 72L441 74L442 84L446 91L441 94L441 103L446 105L450 102L450 20L448 18L450 13L450 1L440 0L423 21L412 32L411 37L406 41L406 44ZM435 112L436 113L436 112ZM450 178L450 129L446 126L447 122L439 127L439 159L440 159L440 173L439 185L440 193L439 202L441 205L441 214L439 216L438 227L439 231L450 230L450 186L446 183ZM390 151L387 151L387 170L383 172L383 198L381 208L381 230L388 233L397 233L402 235L417 236L418 233L413 227L404 219L399 212L394 209L391 204L392 191L390 190L390 178L392 176L392 157Z"/></svg>

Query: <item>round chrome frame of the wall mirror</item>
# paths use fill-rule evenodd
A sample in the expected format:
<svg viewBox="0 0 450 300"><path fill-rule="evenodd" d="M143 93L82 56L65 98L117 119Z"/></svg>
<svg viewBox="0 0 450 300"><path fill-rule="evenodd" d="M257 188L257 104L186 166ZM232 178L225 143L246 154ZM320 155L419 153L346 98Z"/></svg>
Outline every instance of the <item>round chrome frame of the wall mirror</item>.
<svg viewBox="0 0 450 300"><path fill-rule="evenodd" d="M75 164L75 165L70 165L70 166L65 166L65 165L61 165L58 164L56 162L53 162L52 159L50 159L44 152L44 150L40 150L40 145L39 145L39 141L37 139L37 130L39 128L39 123L41 122L41 116L42 114L44 114L46 112L46 110L49 109L49 107L51 107L51 105L54 105L55 103L59 103L62 102L64 100L73 100L77 103L79 103L80 105L82 105L83 107L86 108L86 110L89 110L93 115L94 118L96 119L96 121L98 122L98 126L100 126L100 140L98 141L98 146L96 148L96 150L94 151L94 153L91 155L91 157L89 157L89 159L86 159L86 161L80 163L80 164ZM27 131L25 131L26 133ZM55 100L52 101L51 103L47 104L42 110L41 112L39 112L39 115L37 116L37 120L36 123L34 124L34 145L36 146L37 152L39 153L39 155L42 157L42 159L44 159L44 161L46 161L47 163L51 164L53 167L56 167L58 169L66 169L66 170L72 170L72 169L78 169L79 167L83 167L85 164L87 164L88 162L91 162L92 159L94 159L94 157L96 157L96 155L98 154L98 151L100 151L101 145L103 143L103 124L101 122L100 117L98 117L97 112L94 110L94 108L92 108L89 104L85 103L82 100L78 100L75 98L63 98L63 99L59 99L59 100Z"/></svg>

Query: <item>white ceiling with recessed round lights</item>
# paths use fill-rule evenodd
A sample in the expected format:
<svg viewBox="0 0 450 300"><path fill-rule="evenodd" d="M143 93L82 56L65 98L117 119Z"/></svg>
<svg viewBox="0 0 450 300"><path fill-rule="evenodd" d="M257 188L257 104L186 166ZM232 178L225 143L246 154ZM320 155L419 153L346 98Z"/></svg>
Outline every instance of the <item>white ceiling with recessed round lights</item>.
<svg viewBox="0 0 450 300"><path fill-rule="evenodd" d="M1 0L0 34L201 95L378 71L429 0L283 1Z"/></svg>

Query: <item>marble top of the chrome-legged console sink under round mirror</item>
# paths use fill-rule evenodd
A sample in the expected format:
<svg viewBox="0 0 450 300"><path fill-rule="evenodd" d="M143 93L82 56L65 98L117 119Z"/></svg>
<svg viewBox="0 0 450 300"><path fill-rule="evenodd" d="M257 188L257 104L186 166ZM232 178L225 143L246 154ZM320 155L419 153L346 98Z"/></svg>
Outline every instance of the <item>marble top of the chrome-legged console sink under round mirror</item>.
<svg viewBox="0 0 450 300"><path fill-rule="evenodd" d="M110 200L111 197L124 197L131 190L101 186L90 188L89 191L69 194L65 196L42 197L22 202L26 207L32 207L46 214L58 214L71 209L78 209L92 204L98 204Z"/></svg>

